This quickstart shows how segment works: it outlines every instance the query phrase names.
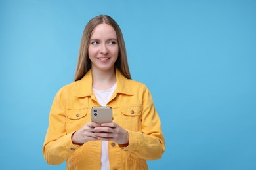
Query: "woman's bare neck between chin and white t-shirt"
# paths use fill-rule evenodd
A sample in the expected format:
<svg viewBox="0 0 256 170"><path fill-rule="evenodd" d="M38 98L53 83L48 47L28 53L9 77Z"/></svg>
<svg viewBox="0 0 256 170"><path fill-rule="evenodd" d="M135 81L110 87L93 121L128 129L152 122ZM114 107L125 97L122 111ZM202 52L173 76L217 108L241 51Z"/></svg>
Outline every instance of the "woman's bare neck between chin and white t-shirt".
<svg viewBox="0 0 256 170"><path fill-rule="evenodd" d="M110 69L109 71L100 71L98 69L93 69L93 88L96 90L106 90L114 86L116 83L116 73L115 69Z"/></svg>

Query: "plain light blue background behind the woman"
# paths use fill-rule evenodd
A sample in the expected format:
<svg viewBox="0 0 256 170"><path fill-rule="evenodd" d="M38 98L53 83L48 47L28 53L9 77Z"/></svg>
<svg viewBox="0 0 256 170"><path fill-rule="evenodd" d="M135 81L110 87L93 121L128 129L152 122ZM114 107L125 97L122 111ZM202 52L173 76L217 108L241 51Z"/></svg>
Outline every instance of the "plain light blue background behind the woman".
<svg viewBox="0 0 256 170"><path fill-rule="evenodd" d="M0 169L64 169L43 158L49 110L98 14L121 27L160 115L150 169L256 169L256 3L242 0L1 0Z"/></svg>

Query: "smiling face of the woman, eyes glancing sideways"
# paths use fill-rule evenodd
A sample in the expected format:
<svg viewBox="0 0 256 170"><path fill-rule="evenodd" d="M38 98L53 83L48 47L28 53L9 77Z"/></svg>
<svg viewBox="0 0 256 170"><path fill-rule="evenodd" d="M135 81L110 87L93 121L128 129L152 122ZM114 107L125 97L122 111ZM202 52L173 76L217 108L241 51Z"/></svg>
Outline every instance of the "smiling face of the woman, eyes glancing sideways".
<svg viewBox="0 0 256 170"><path fill-rule="evenodd" d="M100 24L95 27L88 48L93 69L109 71L114 69L118 58L116 31L111 25Z"/></svg>

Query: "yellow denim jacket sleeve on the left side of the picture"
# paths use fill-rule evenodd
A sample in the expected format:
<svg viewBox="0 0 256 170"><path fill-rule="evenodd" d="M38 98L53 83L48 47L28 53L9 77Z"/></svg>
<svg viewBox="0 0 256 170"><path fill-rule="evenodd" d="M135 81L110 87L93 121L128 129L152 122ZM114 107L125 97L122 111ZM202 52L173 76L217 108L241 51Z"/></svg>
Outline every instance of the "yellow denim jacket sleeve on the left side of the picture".
<svg viewBox="0 0 256 170"><path fill-rule="evenodd" d="M43 144L43 156L48 164L58 165L67 160L79 146L72 143L72 133L66 133L66 104L63 88L56 94L49 114L49 127Z"/></svg>

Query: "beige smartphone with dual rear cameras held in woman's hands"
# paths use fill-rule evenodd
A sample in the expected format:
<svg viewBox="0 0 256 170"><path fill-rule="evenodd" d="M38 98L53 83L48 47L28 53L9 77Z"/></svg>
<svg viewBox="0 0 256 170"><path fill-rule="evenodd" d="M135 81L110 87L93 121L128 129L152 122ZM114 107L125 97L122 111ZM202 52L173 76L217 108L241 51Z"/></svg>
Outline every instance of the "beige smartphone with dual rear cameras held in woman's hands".
<svg viewBox="0 0 256 170"><path fill-rule="evenodd" d="M112 122L112 107L92 107L91 121L97 124Z"/></svg>

